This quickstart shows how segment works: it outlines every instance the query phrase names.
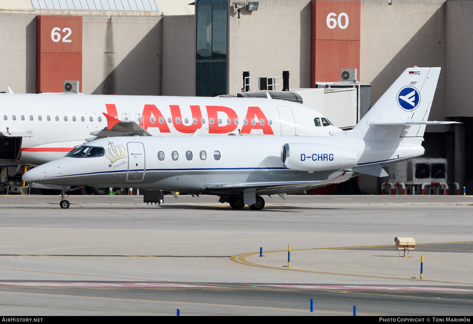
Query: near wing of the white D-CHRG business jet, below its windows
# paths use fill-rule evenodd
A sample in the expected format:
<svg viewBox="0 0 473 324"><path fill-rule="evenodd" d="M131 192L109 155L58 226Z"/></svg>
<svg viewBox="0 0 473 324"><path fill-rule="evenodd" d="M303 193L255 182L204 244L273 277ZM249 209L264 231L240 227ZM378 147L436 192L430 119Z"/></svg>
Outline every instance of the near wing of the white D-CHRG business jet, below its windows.
<svg viewBox="0 0 473 324"><path fill-rule="evenodd" d="M292 188L294 191L307 190L312 187L322 187L332 183L340 183L349 180L353 172L343 172L340 175L321 181L274 181L274 182L243 182L243 183L207 183L202 189L211 192L238 192L245 189L256 189L258 191L279 190Z"/></svg>

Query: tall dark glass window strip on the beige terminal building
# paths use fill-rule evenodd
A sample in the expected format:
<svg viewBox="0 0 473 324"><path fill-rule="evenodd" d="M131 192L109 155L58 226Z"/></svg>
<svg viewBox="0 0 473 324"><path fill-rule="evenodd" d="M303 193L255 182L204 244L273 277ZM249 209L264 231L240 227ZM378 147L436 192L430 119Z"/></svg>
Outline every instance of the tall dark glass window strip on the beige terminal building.
<svg viewBox="0 0 473 324"><path fill-rule="evenodd" d="M227 93L227 1L198 0L196 96Z"/></svg>

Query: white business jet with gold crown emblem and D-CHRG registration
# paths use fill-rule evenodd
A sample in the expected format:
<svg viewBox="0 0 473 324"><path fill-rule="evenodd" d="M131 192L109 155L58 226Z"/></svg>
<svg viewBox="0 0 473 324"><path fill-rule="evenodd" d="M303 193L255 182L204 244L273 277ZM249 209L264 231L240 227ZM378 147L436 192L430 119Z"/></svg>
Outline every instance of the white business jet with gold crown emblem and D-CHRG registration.
<svg viewBox="0 0 473 324"><path fill-rule="evenodd" d="M427 121L439 73L440 68L405 70L350 131L107 137L27 171L23 180L64 188L133 186L208 194L233 208L262 209L261 195L282 196L360 173L386 176L383 166L424 154L425 126L455 123ZM63 199L60 205L67 208L69 202Z"/></svg>

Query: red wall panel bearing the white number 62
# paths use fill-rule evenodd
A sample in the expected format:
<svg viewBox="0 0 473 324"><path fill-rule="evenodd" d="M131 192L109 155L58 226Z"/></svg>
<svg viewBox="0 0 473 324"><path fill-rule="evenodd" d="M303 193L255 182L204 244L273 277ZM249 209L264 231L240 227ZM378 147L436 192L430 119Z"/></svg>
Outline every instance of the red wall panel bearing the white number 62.
<svg viewBox="0 0 473 324"><path fill-rule="evenodd" d="M82 92L82 17L36 17L36 91L62 92L78 80Z"/></svg>

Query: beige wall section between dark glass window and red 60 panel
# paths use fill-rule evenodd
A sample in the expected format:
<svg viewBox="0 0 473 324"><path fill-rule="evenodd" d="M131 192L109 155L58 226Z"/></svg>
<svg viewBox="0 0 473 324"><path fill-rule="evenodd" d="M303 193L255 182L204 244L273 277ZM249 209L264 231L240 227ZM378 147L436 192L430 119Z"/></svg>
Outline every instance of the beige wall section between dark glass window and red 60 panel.
<svg viewBox="0 0 473 324"><path fill-rule="evenodd" d="M280 77L290 72L291 88L310 88L310 0L260 1L258 11L229 6L228 83L231 93L243 88L243 71L249 71L251 90L258 77ZM276 87L277 89L277 87Z"/></svg>

